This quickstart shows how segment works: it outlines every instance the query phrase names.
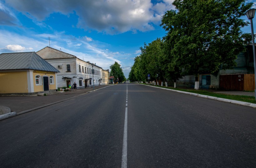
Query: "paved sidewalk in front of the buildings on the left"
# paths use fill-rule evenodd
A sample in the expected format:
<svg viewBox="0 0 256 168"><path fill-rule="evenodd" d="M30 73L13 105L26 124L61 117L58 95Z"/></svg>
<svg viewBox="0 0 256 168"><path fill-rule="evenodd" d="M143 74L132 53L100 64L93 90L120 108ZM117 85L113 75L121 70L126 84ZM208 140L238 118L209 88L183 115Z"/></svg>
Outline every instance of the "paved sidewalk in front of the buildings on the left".
<svg viewBox="0 0 256 168"><path fill-rule="evenodd" d="M94 86L94 91L102 89L105 87L113 86L109 85L99 85ZM49 104L56 104L58 102L72 99L78 97L88 92L93 91L93 87L88 87L84 89L77 89L75 91L56 91L55 94L47 96L17 96L17 95L1 95L0 96L0 120L1 115L7 115L11 112L16 112L17 114L22 114L27 112L27 110L36 110L38 107L46 106ZM42 107L41 107L42 108ZM2 116L4 117L4 116ZM5 118L5 117L4 117Z"/></svg>

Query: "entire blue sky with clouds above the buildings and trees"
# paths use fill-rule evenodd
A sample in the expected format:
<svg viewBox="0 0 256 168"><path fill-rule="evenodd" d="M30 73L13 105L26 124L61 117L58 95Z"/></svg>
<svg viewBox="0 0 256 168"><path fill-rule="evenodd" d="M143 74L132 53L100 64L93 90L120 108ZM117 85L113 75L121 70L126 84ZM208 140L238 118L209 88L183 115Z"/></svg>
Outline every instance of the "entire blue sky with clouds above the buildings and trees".
<svg viewBox="0 0 256 168"><path fill-rule="evenodd" d="M128 78L140 47L165 35L159 25L164 13L174 9L172 2L0 0L0 53L37 52L49 46L50 37L52 48L103 69L118 62ZM242 30L251 33L250 26Z"/></svg>

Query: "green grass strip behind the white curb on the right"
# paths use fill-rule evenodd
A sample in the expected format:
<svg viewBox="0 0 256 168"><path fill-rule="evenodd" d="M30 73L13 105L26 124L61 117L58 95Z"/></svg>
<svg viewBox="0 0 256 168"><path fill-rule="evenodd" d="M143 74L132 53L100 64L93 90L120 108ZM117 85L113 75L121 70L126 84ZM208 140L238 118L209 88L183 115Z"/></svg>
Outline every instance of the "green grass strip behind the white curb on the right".
<svg viewBox="0 0 256 168"><path fill-rule="evenodd" d="M145 83L143 83L143 84L145 84ZM194 90L191 88L180 89L180 88L157 86L157 85L154 85L154 86L178 90L178 91L186 91L186 92L196 93L196 94L201 94L201 95L214 96L214 97L230 99L230 100L238 100L238 101L244 101L244 102L248 102L248 103L256 103L254 96L227 95L227 94L222 94L222 93L214 93L212 90L206 91L206 90Z"/></svg>

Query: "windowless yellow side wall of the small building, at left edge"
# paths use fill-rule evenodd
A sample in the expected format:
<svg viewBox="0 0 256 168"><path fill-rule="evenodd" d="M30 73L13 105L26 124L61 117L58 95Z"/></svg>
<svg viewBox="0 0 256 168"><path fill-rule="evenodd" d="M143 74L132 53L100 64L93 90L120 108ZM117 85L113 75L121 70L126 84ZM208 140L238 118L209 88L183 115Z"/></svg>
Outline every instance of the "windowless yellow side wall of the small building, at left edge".
<svg viewBox="0 0 256 168"><path fill-rule="evenodd" d="M27 72L0 72L0 93L28 93Z"/></svg>

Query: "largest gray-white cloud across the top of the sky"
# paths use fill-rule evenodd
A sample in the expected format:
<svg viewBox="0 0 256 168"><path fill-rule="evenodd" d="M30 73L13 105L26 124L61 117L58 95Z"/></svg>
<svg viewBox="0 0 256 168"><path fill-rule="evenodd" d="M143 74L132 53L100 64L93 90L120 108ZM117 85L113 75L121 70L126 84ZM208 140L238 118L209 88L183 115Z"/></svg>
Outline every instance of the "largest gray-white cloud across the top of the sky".
<svg viewBox="0 0 256 168"><path fill-rule="evenodd" d="M64 15L76 13L77 26L85 30L97 30L106 34L119 34L127 31L154 30L161 16L170 10L172 0L165 3L151 3L150 0L59 0L45 3L41 0L8 0L6 5L31 18L37 25L51 13ZM41 26L45 26L42 24ZM87 41L92 40L86 37Z"/></svg>

